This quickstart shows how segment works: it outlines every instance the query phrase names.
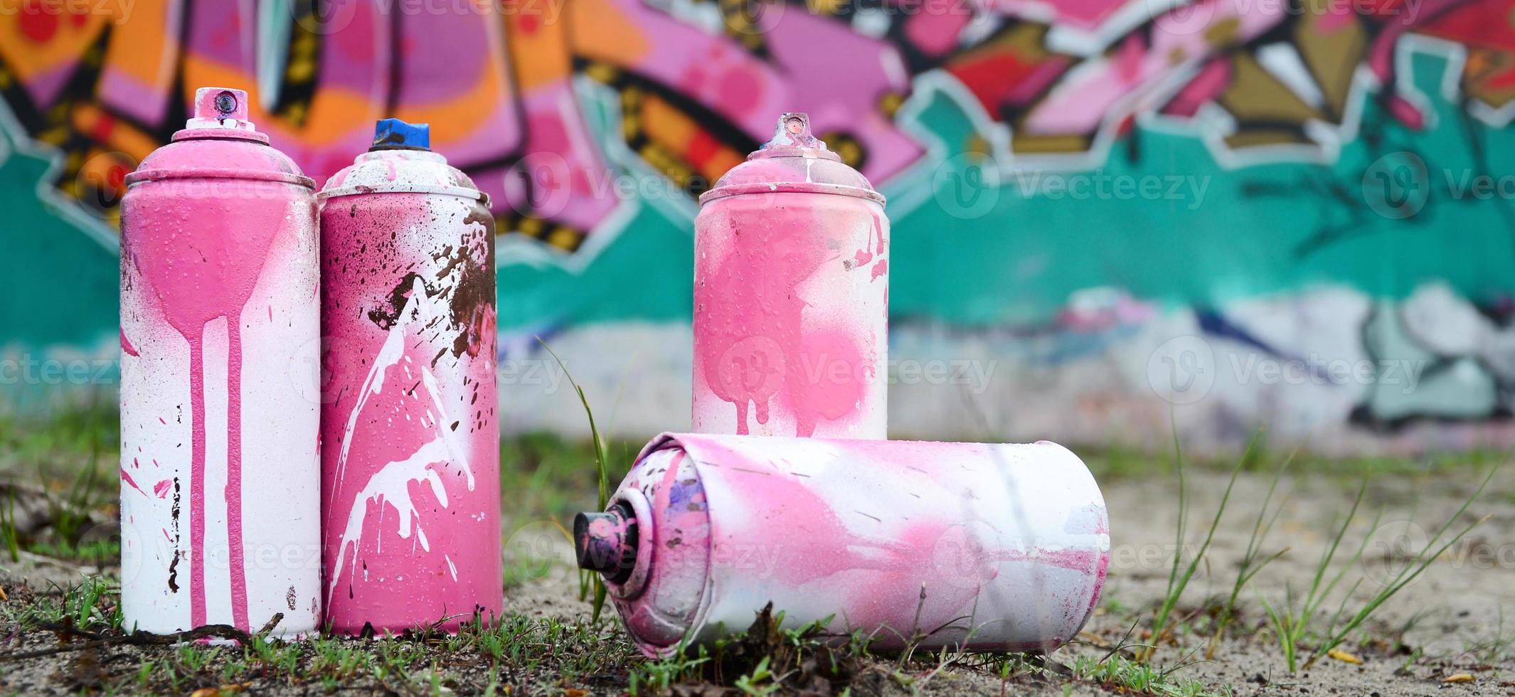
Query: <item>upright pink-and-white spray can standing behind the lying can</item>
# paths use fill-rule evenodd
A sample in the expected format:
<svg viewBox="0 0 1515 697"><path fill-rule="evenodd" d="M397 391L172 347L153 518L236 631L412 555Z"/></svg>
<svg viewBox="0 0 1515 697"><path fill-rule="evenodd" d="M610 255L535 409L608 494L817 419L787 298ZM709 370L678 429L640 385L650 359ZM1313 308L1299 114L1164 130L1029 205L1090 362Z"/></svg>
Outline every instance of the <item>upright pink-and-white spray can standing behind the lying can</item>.
<svg viewBox="0 0 1515 697"><path fill-rule="evenodd" d="M694 430L885 438L883 195L785 114L694 227Z"/></svg>

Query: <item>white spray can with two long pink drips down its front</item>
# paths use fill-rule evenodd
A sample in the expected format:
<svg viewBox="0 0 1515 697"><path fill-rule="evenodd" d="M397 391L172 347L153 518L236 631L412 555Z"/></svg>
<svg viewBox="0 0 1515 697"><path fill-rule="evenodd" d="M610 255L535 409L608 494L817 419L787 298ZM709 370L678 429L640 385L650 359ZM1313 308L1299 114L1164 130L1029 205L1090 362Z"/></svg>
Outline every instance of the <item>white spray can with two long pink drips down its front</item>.
<svg viewBox="0 0 1515 697"><path fill-rule="evenodd" d="M201 88L121 200L121 608L155 633L314 630L320 338L314 182Z"/></svg>

